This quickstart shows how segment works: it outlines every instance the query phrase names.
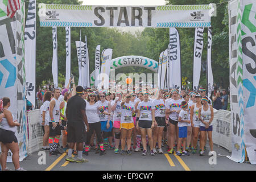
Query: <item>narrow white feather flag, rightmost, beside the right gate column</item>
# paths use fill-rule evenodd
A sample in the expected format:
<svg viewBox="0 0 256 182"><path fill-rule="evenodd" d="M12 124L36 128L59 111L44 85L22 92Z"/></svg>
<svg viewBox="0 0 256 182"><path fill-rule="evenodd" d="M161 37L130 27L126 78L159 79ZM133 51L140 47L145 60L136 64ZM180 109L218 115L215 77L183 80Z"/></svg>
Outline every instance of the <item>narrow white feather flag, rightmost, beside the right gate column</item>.
<svg viewBox="0 0 256 182"><path fill-rule="evenodd" d="M208 47L207 47L207 85L210 98L213 90L213 74L212 74L212 27L208 28Z"/></svg>

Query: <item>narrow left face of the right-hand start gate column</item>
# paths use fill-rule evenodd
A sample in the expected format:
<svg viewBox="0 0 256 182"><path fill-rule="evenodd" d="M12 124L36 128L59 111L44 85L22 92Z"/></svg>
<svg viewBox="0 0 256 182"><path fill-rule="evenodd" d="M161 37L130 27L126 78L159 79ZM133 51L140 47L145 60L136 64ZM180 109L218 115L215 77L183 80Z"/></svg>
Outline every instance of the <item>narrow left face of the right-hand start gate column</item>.
<svg viewBox="0 0 256 182"><path fill-rule="evenodd" d="M232 155L230 159L243 163L245 160L245 130L243 120L241 11L238 1L229 2L229 68L230 107L232 120ZM240 37L240 39L238 39ZM238 41L239 40L239 41Z"/></svg>

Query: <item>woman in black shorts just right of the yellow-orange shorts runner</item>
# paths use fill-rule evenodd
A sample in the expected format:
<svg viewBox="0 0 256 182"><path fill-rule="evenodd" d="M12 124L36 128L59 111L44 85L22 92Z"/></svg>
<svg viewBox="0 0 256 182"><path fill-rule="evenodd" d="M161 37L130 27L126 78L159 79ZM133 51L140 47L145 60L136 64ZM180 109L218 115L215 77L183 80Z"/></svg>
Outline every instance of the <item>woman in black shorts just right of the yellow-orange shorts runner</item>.
<svg viewBox="0 0 256 182"><path fill-rule="evenodd" d="M147 143L146 143L146 133L148 137L148 142L150 144L151 155L155 155L153 152L153 139L152 139L152 129L157 126L155 121L155 106L152 102L148 100L150 94L148 92L143 94L144 100L139 102L137 106L137 112L139 115L139 121L137 123L137 129L141 130L143 152L142 155L147 153Z"/></svg>

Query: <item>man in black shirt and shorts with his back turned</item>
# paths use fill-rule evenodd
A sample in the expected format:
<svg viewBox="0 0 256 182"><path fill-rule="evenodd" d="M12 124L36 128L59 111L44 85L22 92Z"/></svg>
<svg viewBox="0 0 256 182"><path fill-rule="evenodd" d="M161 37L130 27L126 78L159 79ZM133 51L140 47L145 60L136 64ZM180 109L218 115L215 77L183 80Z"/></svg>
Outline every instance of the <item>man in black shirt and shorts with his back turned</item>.
<svg viewBox="0 0 256 182"><path fill-rule="evenodd" d="M76 87L76 95L69 98L66 109L66 117L68 119L68 143L69 150L66 158L69 162L88 162L82 158L82 143L85 141L85 125L89 131L89 124L87 121L85 106L86 102L82 99L84 94L82 86ZM72 151L77 143L77 159L72 157Z"/></svg>

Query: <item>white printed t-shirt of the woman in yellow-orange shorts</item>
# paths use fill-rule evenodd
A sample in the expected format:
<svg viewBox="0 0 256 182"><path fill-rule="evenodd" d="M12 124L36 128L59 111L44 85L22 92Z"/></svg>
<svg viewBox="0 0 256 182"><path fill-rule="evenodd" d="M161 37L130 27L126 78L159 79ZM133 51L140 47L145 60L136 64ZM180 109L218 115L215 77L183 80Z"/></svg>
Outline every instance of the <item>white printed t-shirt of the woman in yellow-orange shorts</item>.
<svg viewBox="0 0 256 182"><path fill-rule="evenodd" d="M133 116L132 112L134 110L134 104L129 102L123 104L121 109L121 123L133 123Z"/></svg>

